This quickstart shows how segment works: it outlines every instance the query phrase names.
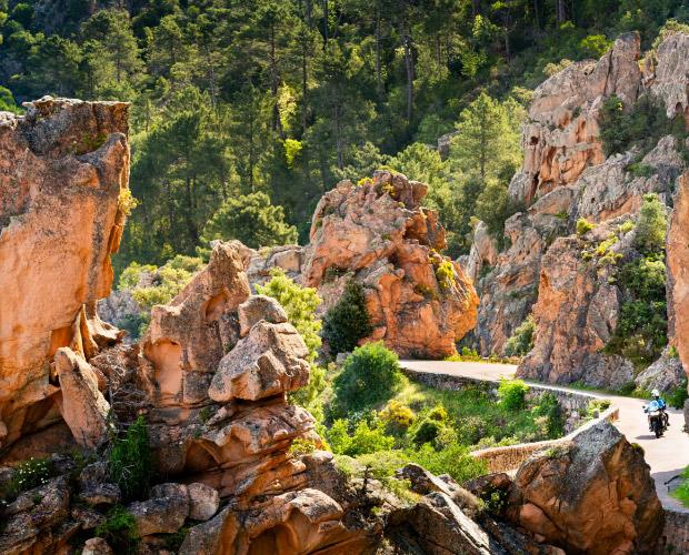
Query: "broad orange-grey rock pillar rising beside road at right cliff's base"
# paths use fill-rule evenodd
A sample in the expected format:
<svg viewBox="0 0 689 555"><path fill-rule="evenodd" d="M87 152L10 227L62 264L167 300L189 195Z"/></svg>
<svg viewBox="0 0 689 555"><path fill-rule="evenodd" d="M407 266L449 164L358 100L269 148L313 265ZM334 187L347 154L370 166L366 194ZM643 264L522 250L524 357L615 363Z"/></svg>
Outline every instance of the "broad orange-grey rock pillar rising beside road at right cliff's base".
<svg viewBox="0 0 689 555"><path fill-rule="evenodd" d="M538 333L533 350L519 365L519 376L612 389L633 381L629 361L602 352L615 333L622 302L611 279L615 263L605 256L630 256L632 232L600 256L590 255L602 241L618 238L620 223L601 225L582 239L560 238L543 256L533 306Z"/></svg>

